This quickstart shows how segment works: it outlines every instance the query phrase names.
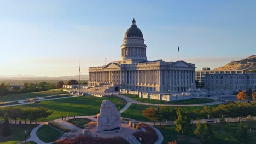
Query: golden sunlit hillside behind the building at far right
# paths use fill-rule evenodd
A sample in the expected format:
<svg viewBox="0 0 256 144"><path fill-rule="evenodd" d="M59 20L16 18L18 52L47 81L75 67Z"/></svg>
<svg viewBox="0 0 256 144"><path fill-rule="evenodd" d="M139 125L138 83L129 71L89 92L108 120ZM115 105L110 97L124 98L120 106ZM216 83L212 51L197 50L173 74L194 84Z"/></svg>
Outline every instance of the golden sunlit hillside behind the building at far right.
<svg viewBox="0 0 256 144"><path fill-rule="evenodd" d="M256 55L238 61L231 61L230 63L213 70L246 70L249 72L256 72Z"/></svg>

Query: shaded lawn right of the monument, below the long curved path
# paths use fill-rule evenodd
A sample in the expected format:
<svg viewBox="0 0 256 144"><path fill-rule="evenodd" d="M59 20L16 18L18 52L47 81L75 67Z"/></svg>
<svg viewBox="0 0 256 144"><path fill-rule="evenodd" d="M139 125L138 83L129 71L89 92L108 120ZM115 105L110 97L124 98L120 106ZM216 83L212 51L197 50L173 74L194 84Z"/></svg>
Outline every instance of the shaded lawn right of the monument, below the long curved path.
<svg viewBox="0 0 256 144"><path fill-rule="evenodd" d="M216 107L217 105L211 105L210 107ZM131 118L131 119L135 119L137 121L149 121L148 118L144 117L142 115L142 110L147 109L148 107L150 107L150 105L140 105L140 104L131 104L131 106L124 111L123 113L121 113L121 117L125 117L125 118ZM153 107L158 107L158 106L153 106ZM166 106L169 109L174 109L176 108L175 106ZM181 107L181 109L185 110L185 111L193 111L194 109L203 109L203 106L187 106L187 107Z"/></svg>

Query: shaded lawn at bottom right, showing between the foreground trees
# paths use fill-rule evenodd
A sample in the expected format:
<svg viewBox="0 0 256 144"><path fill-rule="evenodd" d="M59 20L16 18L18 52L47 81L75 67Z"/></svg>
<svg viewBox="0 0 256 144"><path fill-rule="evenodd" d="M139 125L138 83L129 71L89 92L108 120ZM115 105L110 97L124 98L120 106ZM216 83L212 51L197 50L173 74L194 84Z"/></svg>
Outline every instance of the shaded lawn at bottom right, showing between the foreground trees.
<svg viewBox="0 0 256 144"><path fill-rule="evenodd" d="M220 124L210 124L211 129L214 133L214 143L240 143L234 136L237 130L237 124L238 123L228 123L226 124L226 127L223 129L223 133L220 133ZM175 125L162 125L162 126L156 126L158 128L162 135L164 136L164 141L162 143L168 143L174 140L177 140L178 137L181 137L177 132L175 131L176 126ZM195 131L196 125L193 125L193 131ZM254 121L252 131L256 130L256 122ZM200 139L197 139L196 136L193 133L190 133L188 136L185 136L185 141L177 141L177 143L197 143ZM251 143L256 141L256 133L252 133L252 141Z"/></svg>

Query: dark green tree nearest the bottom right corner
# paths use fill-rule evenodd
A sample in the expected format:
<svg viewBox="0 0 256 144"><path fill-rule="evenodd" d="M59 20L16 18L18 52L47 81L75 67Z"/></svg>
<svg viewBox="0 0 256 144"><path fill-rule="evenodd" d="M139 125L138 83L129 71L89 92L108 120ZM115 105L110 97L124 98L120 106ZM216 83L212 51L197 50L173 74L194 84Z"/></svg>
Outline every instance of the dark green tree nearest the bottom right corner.
<svg viewBox="0 0 256 144"><path fill-rule="evenodd" d="M248 125L240 122L236 134L234 135L240 143L248 143L252 136L248 133Z"/></svg>

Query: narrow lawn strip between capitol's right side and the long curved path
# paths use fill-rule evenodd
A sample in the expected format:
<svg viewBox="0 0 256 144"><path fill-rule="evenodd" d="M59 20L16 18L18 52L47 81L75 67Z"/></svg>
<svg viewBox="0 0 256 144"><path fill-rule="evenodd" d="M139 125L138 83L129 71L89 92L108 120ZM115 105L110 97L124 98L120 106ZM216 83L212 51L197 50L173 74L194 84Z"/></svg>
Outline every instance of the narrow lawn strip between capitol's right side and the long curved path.
<svg viewBox="0 0 256 144"><path fill-rule="evenodd" d="M156 99L147 99L147 98L139 98L136 94L123 94L126 97L130 97L134 100L141 101L143 103L151 103L151 104L203 104L203 103L211 103L214 102L213 99L207 99L207 98L191 98L187 100L177 100L177 101L171 101L170 103L168 101L164 100L156 100Z"/></svg>

